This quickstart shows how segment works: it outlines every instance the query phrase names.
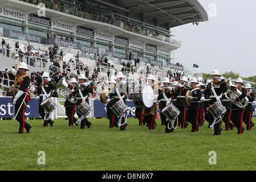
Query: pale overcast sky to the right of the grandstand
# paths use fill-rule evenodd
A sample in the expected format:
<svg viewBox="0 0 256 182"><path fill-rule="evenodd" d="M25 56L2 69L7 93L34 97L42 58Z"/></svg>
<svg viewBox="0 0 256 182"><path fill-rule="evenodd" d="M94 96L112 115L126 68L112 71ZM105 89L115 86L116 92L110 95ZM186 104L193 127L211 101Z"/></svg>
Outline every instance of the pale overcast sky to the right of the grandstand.
<svg viewBox="0 0 256 182"><path fill-rule="evenodd" d="M242 77L256 75L256 1L198 0L208 13L208 22L172 28L174 39L182 41L174 58L194 72L222 74L233 71ZM210 16L210 3L216 4L217 16Z"/></svg>

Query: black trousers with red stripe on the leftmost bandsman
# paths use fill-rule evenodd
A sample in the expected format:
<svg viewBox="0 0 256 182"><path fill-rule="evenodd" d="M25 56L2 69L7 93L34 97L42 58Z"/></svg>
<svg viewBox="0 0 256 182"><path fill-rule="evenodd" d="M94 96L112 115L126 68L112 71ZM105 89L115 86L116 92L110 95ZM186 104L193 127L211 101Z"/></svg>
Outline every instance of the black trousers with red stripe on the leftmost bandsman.
<svg viewBox="0 0 256 182"><path fill-rule="evenodd" d="M25 110L26 110L26 105L23 101L24 96L22 95L16 102L15 104L15 111L14 111L14 115L17 114L16 120L19 122L19 133L24 133L24 128L26 130L30 129L30 125L25 121ZM26 102L27 104L28 102ZM21 107L21 109L19 109L19 107Z"/></svg>

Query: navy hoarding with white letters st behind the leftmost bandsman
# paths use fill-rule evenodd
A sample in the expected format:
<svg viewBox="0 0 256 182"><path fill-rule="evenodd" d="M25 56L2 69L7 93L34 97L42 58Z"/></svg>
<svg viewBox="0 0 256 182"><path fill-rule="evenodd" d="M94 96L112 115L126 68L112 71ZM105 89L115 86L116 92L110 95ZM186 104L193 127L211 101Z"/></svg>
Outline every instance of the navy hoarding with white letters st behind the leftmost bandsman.
<svg viewBox="0 0 256 182"><path fill-rule="evenodd" d="M40 117L38 112L39 100L31 98L31 101L27 105L25 111L25 117ZM18 105L17 105L18 107ZM12 97L2 97L0 98L0 118L13 118L13 98Z"/></svg>

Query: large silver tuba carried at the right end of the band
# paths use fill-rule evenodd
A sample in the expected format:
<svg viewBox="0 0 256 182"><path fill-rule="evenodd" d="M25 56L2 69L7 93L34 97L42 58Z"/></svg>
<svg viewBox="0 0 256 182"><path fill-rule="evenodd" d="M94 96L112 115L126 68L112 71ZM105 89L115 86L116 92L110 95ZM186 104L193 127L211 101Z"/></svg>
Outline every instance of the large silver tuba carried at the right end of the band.
<svg viewBox="0 0 256 182"><path fill-rule="evenodd" d="M228 90L226 93L224 93L224 96L227 98L227 100L229 100L232 104L236 105L240 109L245 108L249 104L248 98L245 97L241 101L234 102L235 98L241 96L242 93L237 89L237 86L231 82L231 77L227 81L229 81L229 84L227 84Z"/></svg>

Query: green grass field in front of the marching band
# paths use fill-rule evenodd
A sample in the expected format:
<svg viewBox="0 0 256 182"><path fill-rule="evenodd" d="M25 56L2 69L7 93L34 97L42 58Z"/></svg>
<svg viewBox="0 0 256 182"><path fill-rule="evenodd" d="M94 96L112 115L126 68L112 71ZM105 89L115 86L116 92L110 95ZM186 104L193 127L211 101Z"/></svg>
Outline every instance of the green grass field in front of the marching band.
<svg viewBox="0 0 256 182"><path fill-rule="evenodd" d="M30 120L31 133L22 135L17 121L0 121L0 170L256 169L255 127L242 135L234 129L214 136L208 122L197 133L190 132L191 125L165 133L160 121L153 131L138 126L137 119L128 119L125 131L109 129L107 119L90 121L91 129L80 130L64 119L54 127ZM38 164L38 151L46 153L45 165ZM209 151L216 151L216 165L209 164Z"/></svg>

